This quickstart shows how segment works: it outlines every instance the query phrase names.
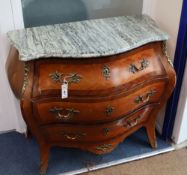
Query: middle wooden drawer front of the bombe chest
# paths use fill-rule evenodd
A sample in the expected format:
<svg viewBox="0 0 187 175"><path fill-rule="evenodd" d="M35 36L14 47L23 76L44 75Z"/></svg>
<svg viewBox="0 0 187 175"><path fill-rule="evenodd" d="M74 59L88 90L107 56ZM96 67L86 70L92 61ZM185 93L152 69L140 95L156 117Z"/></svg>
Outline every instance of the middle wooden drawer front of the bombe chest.
<svg viewBox="0 0 187 175"><path fill-rule="evenodd" d="M64 101L51 99L33 103L34 113L42 124L59 122L112 121L121 118L145 104L157 103L164 91L164 82L156 82L124 97L107 101Z"/></svg>

